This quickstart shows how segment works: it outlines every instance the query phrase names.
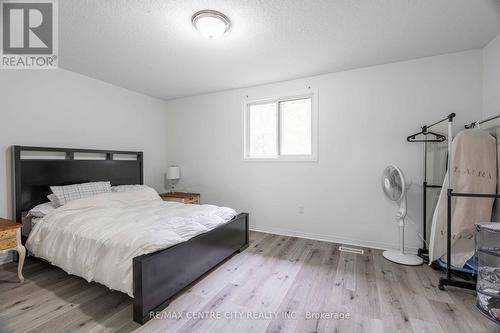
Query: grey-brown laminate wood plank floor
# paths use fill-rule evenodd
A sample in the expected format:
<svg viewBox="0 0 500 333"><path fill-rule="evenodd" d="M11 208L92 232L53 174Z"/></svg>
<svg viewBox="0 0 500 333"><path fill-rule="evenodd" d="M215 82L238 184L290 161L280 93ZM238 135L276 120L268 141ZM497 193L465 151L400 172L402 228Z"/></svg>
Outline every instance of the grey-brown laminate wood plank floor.
<svg viewBox="0 0 500 333"><path fill-rule="evenodd" d="M473 292L440 291L440 273L427 266L257 232L144 326L127 295L35 259L24 276L19 284L15 264L0 266L0 332L500 331L475 310Z"/></svg>

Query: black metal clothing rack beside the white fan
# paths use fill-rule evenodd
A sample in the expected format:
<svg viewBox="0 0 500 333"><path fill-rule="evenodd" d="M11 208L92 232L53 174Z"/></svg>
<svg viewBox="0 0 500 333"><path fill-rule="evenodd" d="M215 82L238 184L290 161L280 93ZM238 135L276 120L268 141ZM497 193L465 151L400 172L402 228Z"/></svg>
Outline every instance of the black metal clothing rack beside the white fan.
<svg viewBox="0 0 500 333"><path fill-rule="evenodd" d="M454 113L449 114L446 118L435 122L432 125L427 126L427 128L432 127L434 125L440 124L443 121L448 120L448 158L447 158L447 170L448 172L448 186L447 186L447 221L446 221L446 277L439 279L439 289L444 290L445 286L453 286L465 289L476 289L476 282L470 281L461 281L453 279L452 273L453 269L451 267L451 201L453 197L466 197L466 198L500 198L498 194L483 194L483 193L460 193L454 192L451 188L451 161L452 161L452 143L453 143L453 118L455 117ZM492 116L487 119L479 120L470 123L469 125L465 125L466 129L475 128L478 124L484 124L494 119L500 118L500 115ZM423 181L423 246L418 250L418 255L422 257L424 260L429 262L428 258L428 249L427 249L427 189L429 188L442 188L440 185L429 185L427 184L427 142L424 142L424 181ZM441 268L440 266L437 266ZM434 266L434 268L437 268ZM458 274L457 274L458 275Z"/></svg>

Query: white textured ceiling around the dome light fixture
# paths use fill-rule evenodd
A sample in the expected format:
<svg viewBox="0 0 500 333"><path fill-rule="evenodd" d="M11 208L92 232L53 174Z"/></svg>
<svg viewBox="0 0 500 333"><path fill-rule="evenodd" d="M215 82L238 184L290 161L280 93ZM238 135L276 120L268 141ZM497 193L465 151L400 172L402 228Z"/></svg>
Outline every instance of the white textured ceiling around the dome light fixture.
<svg viewBox="0 0 500 333"><path fill-rule="evenodd" d="M229 33L197 33L201 9ZM480 48L500 0L63 0L59 31L60 67L171 99Z"/></svg>

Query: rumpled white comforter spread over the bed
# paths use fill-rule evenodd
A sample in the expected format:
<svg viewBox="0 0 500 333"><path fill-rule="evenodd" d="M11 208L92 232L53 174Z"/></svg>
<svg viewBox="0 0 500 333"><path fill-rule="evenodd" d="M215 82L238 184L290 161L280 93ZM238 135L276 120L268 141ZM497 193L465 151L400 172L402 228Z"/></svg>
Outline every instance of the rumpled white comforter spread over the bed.
<svg viewBox="0 0 500 333"><path fill-rule="evenodd" d="M228 222L230 208L161 200L153 189L71 201L31 231L28 250L66 272L133 297L132 258Z"/></svg>

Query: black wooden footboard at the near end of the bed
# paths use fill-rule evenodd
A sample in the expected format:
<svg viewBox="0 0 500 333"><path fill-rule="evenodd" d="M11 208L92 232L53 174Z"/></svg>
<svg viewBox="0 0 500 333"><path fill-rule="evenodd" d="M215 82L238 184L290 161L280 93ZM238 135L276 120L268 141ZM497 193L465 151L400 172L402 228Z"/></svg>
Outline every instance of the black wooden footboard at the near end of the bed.
<svg viewBox="0 0 500 333"><path fill-rule="evenodd" d="M248 214L190 240L135 257L134 321L144 324L166 308L173 296L248 247Z"/></svg>

